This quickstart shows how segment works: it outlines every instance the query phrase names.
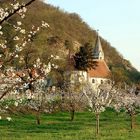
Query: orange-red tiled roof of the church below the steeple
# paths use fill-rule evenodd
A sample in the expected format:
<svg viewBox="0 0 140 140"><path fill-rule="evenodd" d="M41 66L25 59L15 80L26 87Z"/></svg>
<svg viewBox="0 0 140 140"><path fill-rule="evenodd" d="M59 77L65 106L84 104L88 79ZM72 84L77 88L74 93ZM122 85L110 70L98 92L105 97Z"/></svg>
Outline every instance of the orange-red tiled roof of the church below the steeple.
<svg viewBox="0 0 140 140"><path fill-rule="evenodd" d="M107 78L109 74L110 70L104 60L98 60L95 69L88 70L89 77Z"/></svg>

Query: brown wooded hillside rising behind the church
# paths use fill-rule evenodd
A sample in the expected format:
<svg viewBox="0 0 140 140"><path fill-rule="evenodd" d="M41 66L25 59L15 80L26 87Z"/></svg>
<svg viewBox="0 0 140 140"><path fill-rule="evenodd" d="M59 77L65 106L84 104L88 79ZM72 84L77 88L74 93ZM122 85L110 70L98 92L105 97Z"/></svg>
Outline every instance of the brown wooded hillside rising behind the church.
<svg viewBox="0 0 140 140"><path fill-rule="evenodd" d="M15 18L18 19L18 17ZM51 54L67 59L68 47L75 52L87 42L93 47L95 45L96 31L91 29L76 13L68 13L59 7L36 1L28 7L26 18L23 20L25 28L30 29L31 25L38 26L42 20L46 21L50 28L41 31L34 38L33 44L24 51L25 54L31 52L30 55L34 56L32 59L40 55L46 61ZM126 81L140 82L140 73L116 50L117 46L114 48L107 40L101 38L105 60L110 70L124 77ZM61 63L65 69L67 62Z"/></svg>

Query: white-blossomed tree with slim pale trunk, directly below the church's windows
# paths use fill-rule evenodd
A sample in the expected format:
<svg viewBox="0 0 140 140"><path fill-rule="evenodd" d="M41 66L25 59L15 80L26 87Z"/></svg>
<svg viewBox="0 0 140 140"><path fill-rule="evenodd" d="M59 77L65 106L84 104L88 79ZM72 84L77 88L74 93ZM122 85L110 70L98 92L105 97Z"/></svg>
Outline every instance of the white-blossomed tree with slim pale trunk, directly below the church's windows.
<svg viewBox="0 0 140 140"><path fill-rule="evenodd" d="M83 92L87 97L89 110L96 116L96 134L99 134L99 120L100 114L105 111L107 107L111 107L111 103L117 94L114 85L101 84L92 86L87 83Z"/></svg>

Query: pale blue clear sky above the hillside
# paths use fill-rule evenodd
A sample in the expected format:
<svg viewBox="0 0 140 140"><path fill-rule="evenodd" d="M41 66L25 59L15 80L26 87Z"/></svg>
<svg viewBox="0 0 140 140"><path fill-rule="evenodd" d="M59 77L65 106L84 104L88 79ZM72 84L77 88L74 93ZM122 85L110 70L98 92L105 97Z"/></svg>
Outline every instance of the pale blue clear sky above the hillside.
<svg viewBox="0 0 140 140"><path fill-rule="evenodd" d="M77 13L140 71L140 0L46 0Z"/></svg>

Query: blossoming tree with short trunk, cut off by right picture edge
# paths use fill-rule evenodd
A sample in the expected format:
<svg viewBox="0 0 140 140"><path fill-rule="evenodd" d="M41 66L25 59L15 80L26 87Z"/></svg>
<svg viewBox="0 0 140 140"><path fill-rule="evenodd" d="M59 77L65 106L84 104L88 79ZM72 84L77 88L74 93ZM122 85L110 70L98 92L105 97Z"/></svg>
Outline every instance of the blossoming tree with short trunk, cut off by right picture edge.
<svg viewBox="0 0 140 140"><path fill-rule="evenodd" d="M135 94L135 86L128 87L126 89L121 89L114 99L114 108L116 111L124 109L126 113L130 116L131 129L134 128L135 116L140 113L140 95Z"/></svg>

